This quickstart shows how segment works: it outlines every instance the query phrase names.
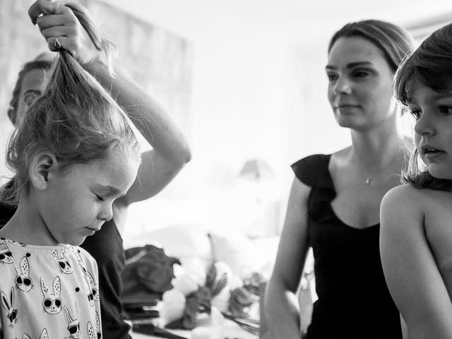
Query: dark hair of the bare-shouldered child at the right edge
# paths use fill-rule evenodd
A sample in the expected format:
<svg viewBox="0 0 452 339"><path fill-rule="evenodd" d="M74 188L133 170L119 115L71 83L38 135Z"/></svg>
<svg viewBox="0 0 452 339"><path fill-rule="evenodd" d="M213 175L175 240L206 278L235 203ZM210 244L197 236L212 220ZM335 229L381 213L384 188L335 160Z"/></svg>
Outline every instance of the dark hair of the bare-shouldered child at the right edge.
<svg viewBox="0 0 452 339"><path fill-rule="evenodd" d="M419 84L439 93L452 90L452 24L433 32L403 60L394 78L394 96L406 106L411 100L413 86ZM451 186L451 180L438 179L429 173L417 150L410 156L403 182L417 188L446 189Z"/></svg>

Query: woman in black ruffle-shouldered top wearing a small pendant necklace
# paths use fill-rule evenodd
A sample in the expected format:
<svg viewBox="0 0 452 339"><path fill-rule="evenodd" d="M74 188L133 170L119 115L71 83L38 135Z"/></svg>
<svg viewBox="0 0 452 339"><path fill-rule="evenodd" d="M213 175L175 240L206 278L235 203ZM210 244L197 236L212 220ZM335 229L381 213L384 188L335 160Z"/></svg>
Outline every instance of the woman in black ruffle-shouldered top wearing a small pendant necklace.
<svg viewBox="0 0 452 339"><path fill-rule="evenodd" d="M328 101L352 145L295 162L266 321L273 338L402 338L379 253L379 208L400 184L407 146L393 74L412 47L403 28L381 20L348 23L328 45ZM309 247L319 299L301 333L295 293Z"/></svg>

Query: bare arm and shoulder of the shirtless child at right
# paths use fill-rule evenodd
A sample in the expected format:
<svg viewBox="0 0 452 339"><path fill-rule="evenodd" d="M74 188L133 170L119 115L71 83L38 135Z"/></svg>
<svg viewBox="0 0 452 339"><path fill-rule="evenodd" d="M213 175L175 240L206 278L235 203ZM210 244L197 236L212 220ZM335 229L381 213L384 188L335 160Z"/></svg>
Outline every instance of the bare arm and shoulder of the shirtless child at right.
<svg viewBox="0 0 452 339"><path fill-rule="evenodd" d="M417 193L404 185L383 198L383 272L410 339L451 339L451 299L425 236L422 196Z"/></svg>

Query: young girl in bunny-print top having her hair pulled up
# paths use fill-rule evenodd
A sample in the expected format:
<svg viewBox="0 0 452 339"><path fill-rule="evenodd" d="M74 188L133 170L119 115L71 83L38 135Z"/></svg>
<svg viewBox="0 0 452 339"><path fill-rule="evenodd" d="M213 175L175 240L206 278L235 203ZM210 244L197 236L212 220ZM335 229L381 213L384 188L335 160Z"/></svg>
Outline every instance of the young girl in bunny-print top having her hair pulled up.
<svg viewBox="0 0 452 339"><path fill-rule="evenodd" d="M0 230L1 338L100 338L97 264L78 245L112 218L140 155L126 114L60 48L8 144L2 198L18 208Z"/></svg>

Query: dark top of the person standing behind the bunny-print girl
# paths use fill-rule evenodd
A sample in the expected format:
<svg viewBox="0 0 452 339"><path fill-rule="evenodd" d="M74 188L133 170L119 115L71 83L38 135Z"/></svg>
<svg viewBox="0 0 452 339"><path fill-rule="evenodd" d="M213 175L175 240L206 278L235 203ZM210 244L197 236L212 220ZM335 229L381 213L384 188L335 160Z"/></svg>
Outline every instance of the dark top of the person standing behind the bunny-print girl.
<svg viewBox="0 0 452 339"><path fill-rule="evenodd" d="M5 225L15 212L16 208L0 204L0 227ZM114 221L105 222L99 232L85 239L81 247L97 261L103 338L130 339L130 326L122 321L122 304L119 300L122 292L124 248Z"/></svg>

